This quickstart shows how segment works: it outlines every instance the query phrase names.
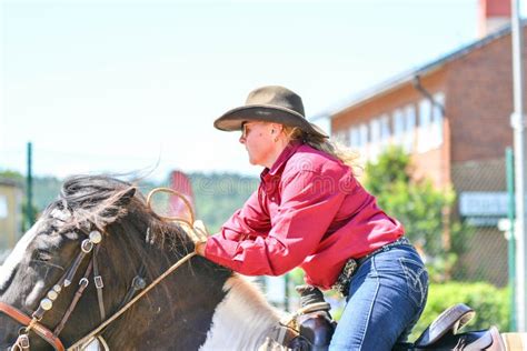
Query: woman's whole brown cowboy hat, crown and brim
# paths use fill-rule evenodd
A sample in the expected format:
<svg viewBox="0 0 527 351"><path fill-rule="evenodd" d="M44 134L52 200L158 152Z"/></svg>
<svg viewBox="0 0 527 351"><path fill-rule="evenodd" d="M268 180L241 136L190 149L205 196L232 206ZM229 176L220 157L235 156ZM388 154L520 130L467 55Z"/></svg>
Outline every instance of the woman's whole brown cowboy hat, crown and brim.
<svg viewBox="0 0 527 351"><path fill-rule="evenodd" d="M320 127L308 122L304 114L302 99L287 88L279 86L261 87L252 90L246 104L227 111L215 121L219 130L241 130L248 121L267 121L298 127L308 134L329 138Z"/></svg>

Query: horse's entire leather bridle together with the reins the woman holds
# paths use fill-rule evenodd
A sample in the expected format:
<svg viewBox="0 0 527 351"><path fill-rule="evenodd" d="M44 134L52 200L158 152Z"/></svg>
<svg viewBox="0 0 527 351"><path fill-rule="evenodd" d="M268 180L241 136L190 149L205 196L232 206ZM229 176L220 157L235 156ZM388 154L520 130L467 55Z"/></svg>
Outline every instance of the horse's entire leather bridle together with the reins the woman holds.
<svg viewBox="0 0 527 351"><path fill-rule="evenodd" d="M191 210L191 207L185 197L168 188L157 188L153 189L148 198L147 198L147 205L148 208L151 209L150 207L150 200L151 195L155 192L162 191L162 192L170 192L177 197L179 197L181 200L183 200L185 204L188 207L188 211L190 213L191 220L193 221L193 213ZM167 217L161 217L165 220L171 220L171 221L180 221L186 224L189 224L190 229L193 231L192 225L180 218L167 218ZM82 230L81 230L82 231ZM195 233L199 238L201 233ZM175 270L177 270L181 264L190 260L193 255L196 255L196 252L190 252L183 258L181 258L179 261L177 261L175 264L172 264L167 271L165 271L161 275L159 275L156 280L153 280L148 287L145 288L145 283L142 281L142 284L139 283L138 287L138 280L141 280L141 277L136 275L133 281L132 281L132 287L130 291L127 293L125 297L121 308L115 312L110 318L106 319L106 311L105 311L105 304L103 304L103 299L102 299L102 288L103 288L103 282L101 275L99 275L98 272L98 264L97 264L97 252L99 251L99 243L102 240L102 234L98 230L93 230L88 234L88 239L84 239L81 243L81 251L77 255L77 258L73 260L71 265L68 268L66 273L59 279L59 281L48 291L46 297L40 301L39 308L37 311L34 311L31 317L26 314L24 312L20 311L19 309L4 303L0 302L0 312L9 315L11 319L17 321L18 323L22 324L23 328L20 329L19 331L19 337L17 338L17 341L11 347L11 350L23 350L27 351L30 349L30 342L29 342L29 332L33 331L37 335L42 338L46 342L48 342L51 347L53 347L54 350L57 351L64 351L64 350L77 350L79 348L82 348L83 345L88 344L89 342L93 341L96 338L98 338L98 334L106 328L108 327L111 322L113 322L117 318L119 318L122 313L125 313L130 307L132 307L139 299L141 299L146 293L148 293L151 289L153 289L159 282L161 282L167 275L172 273ZM57 324L53 331L48 329L46 325L40 323L42 320L43 315L46 314L47 311L51 310L53 307L53 302L57 300L59 297L60 292L63 291L63 288L67 288L71 284L72 279L74 278L79 267L83 262L84 258L91 253L91 261L88 263L88 267L84 271L83 277L79 280L79 287L77 288L77 292L73 295L73 299L70 302L69 308L67 309L66 313L63 314L62 319L60 322ZM63 343L59 339L59 334L64 328L67 321L69 320L71 313L73 312L74 308L77 307L77 303L79 302L83 291L88 287L89 283L89 275L93 271L93 281L96 284L97 289L97 298L98 298L98 303L99 303L99 312L101 315L101 321L102 323L99 324L96 329L93 329L91 332L89 332L87 335L82 337L80 340L74 342L71 347L68 349L64 348ZM145 288L142 291L140 291L136 297L133 297L133 293L136 293L138 290ZM133 297L133 299L131 299ZM129 300L129 301L128 301ZM106 320L105 320L106 319Z"/></svg>

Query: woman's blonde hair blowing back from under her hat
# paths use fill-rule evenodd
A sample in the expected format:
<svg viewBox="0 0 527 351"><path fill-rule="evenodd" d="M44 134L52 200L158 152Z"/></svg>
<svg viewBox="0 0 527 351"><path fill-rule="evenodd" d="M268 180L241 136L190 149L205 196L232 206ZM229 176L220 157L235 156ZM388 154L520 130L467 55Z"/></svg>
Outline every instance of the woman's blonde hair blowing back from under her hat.
<svg viewBox="0 0 527 351"><path fill-rule="evenodd" d="M354 170L354 173L356 170L361 169L358 162L359 154L338 141L308 134L298 127L284 126L284 133L289 140L302 140L311 148L339 159L345 164L349 166Z"/></svg>

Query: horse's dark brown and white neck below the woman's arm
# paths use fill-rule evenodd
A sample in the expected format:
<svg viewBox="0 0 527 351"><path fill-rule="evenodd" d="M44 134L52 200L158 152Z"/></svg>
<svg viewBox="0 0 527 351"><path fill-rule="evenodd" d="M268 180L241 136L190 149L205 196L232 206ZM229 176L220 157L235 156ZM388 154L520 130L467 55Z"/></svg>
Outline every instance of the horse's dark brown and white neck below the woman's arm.
<svg viewBox="0 0 527 351"><path fill-rule="evenodd" d="M177 260L159 250L150 264L163 270ZM152 349L177 344L189 350L255 350L278 321L277 311L252 283L196 257L138 301L103 337L111 348L133 349L147 342Z"/></svg>

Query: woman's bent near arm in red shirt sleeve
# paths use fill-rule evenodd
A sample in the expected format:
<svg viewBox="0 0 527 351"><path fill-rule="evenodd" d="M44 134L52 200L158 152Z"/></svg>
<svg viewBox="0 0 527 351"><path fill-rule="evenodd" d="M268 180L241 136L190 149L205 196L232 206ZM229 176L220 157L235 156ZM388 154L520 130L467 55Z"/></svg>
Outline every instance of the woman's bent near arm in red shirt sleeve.
<svg viewBox="0 0 527 351"><path fill-rule="evenodd" d="M282 181L268 235L233 241L218 233L207 240L205 255L242 274L280 275L314 253L345 198L338 178L300 171Z"/></svg>

